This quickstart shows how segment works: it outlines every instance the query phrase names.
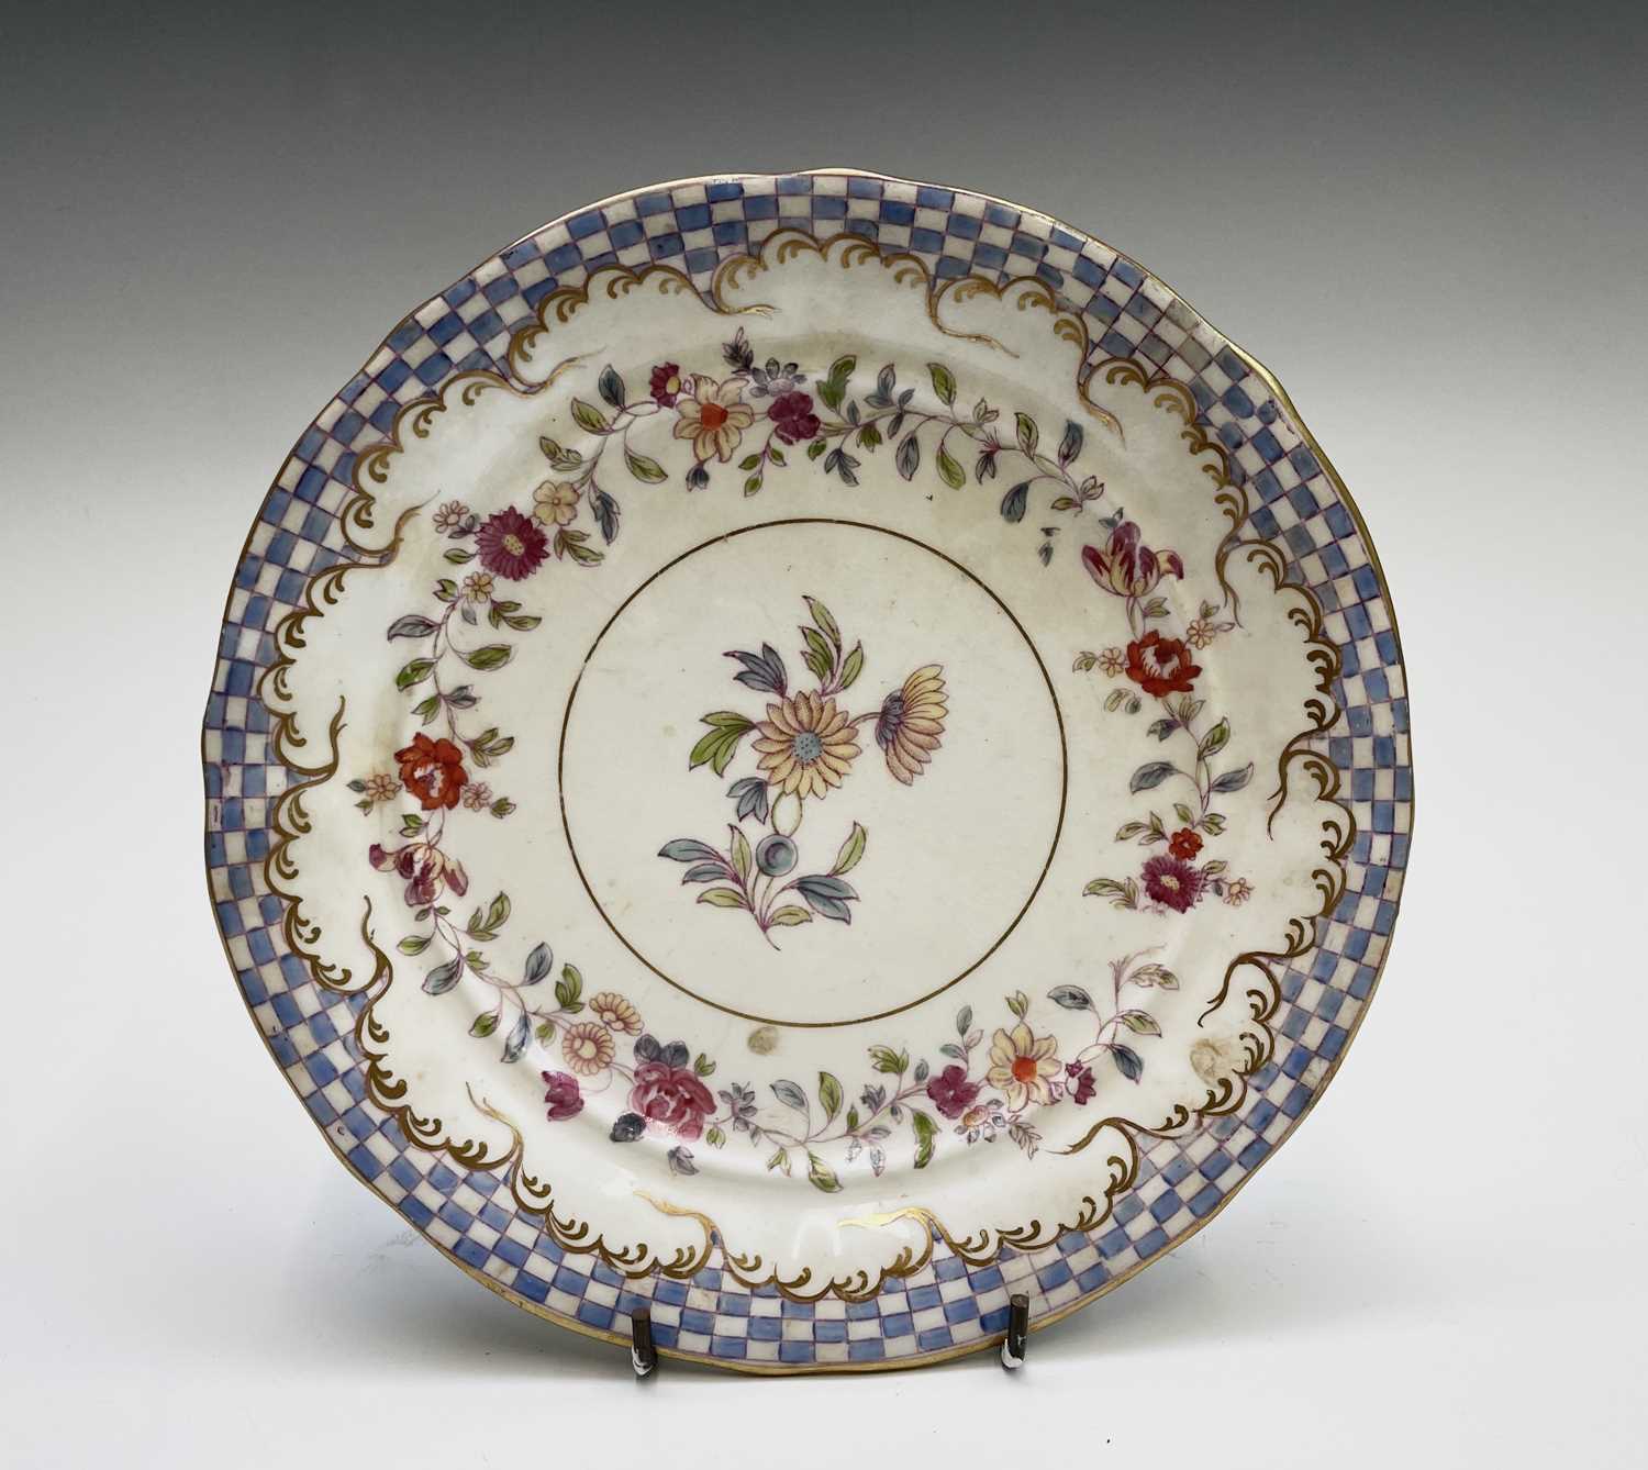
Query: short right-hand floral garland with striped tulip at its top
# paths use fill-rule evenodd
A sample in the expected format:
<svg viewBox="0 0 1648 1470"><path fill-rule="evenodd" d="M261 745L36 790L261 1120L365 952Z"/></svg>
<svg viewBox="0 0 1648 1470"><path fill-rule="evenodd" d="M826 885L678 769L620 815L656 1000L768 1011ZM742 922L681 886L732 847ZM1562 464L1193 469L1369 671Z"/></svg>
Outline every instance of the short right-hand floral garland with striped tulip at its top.
<svg viewBox="0 0 1648 1470"><path fill-rule="evenodd" d="M1116 908L1147 908L1152 913L1188 913L1206 895L1213 893L1224 903L1239 905L1252 897L1248 878L1233 878L1229 864L1223 859L1196 864L1206 837L1224 832L1224 816L1213 809L1213 799L1231 791L1241 791L1252 779L1252 761L1244 766L1216 771L1213 756L1231 740L1231 722L1220 719L1203 725L1206 700L1195 692L1201 666L1192 661L1193 651L1211 646L1221 633L1229 633L1236 623L1220 620L1220 608L1203 602L1185 630L1183 638L1168 634L1170 618L1167 598L1154 595L1163 577L1185 575L1185 562L1175 550L1155 552L1142 541L1139 527L1121 513L1104 522L1109 527L1106 545L1083 547L1081 564L1093 580L1112 597L1119 597L1127 613L1131 639L1127 648L1106 648L1103 653L1076 654L1076 672L1098 667L1103 674L1127 679L1111 691L1104 709L1127 715L1144 709L1144 699L1135 691L1154 699L1160 709L1150 723L1150 733L1162 743L1175 737L1193 755L1183 765L1170 760L1145 761L1132 773L1127 789L1134 794L1154 791L1167 781L1183 781L1193 788L1193 799L1175 801L1168 824L1157 811L1149 811L1142 821L1127 821L1116 832L1117 842L1137 842L1140 847L1165 844L1167 850L1145 859L1137 877L1093 878L1083 890L1089 897L1109 898ZM1152 621L1162 626L1149 626ZM1132 686L1132 689L1129 689Z"/></svg>

